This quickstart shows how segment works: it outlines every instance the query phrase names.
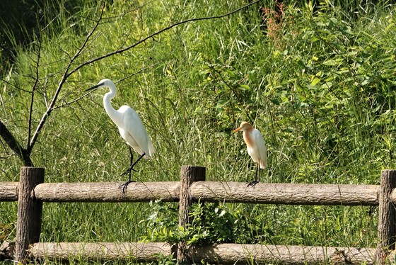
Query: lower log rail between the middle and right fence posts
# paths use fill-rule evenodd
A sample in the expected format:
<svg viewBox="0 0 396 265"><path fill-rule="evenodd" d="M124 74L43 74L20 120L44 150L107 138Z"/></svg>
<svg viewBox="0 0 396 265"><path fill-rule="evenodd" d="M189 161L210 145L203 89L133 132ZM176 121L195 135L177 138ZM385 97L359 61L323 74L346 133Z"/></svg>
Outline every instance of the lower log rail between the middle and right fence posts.
<svg viewBox="0 0 396 265"><path fill-rule="evenodd" d="M218 244L189 250L197 264L375 264L375 249L363 248Z"/></svg>

